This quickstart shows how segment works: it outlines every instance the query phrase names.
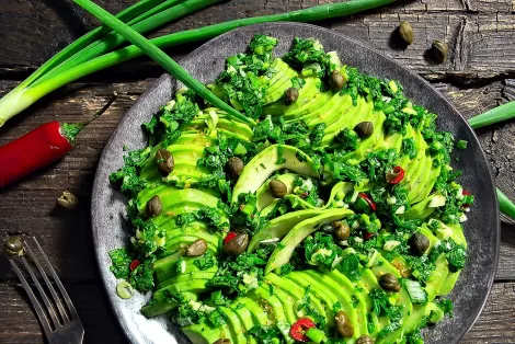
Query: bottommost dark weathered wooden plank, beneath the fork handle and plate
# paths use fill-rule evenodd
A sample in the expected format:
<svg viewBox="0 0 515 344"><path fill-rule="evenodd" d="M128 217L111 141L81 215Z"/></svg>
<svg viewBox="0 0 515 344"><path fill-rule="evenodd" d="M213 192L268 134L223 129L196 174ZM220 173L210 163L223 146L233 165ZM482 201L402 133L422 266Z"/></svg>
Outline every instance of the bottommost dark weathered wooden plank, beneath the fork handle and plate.
<svg viewBox="0 0 515 344"><path fill-rule="evenodd" d="M85 329L84 343L127 343L112 314L104 290L94 285L66 284ZM495 284L488 306L461 343L513 343L515 283ZM20 285L0 284L0 343L44 343L39 324Z"/></svg>

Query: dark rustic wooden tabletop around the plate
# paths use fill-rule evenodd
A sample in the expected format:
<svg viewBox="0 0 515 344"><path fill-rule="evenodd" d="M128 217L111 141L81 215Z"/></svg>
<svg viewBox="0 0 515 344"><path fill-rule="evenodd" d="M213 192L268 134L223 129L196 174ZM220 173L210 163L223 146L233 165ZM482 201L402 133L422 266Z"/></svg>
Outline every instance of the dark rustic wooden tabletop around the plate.
<svg viewBox="0 0 515 344"><path fill-rule="evenodd" d="M98 2L118 12L135 0ZM330 1L318 3L321 2ZM317 0L233 0L156 34L316 4ZM397 49L390 38L401 20L412 23L416 36L405 50ZM399 1L377 11L318 24L359 39L419 72L466 117L515 100L515 2L511 0ZM94 25L95 21L70 5L70 1L0 0L0 95ZM449 43L449 58L443 65L431 65L423 57L434 39ZM180 59L196 46L169 53ZM108 112L79 136L70 154L0 191L1 238L21 233L39 239L78 308L87 343L125 342L104 296L93 255L90 197L96 163L119 118L161 73L162 69L146 58L127 62L54 92L0 128L3 145L49 121L79 122L100 108L113 91L118 93ZM478 134L497 185L515 199L515 124L496 125ZM56 198L66 190L79 196L77 210L56 207ZM464 343L515 343L513 222L503 222L501 236L495 285ZM42 330L25 294L7 260L0 259L0 343L42 342Z"/></svg>

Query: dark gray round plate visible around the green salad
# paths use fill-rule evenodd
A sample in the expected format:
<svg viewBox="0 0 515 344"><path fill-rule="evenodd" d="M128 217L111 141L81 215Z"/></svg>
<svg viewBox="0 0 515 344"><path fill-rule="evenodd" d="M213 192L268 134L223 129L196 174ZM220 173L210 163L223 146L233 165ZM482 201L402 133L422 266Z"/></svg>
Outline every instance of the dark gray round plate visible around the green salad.
<svg viewBox="0 0 515 344"><path fill-rule="evenodd" d="M198 80L210 82L224 69L225 59L243 51L255 33L279 38L276 48L278 56L287 51L296 36L320 39L328 51L336 50L344 64L358 67L371 76L400 80L408 96L439 115L440 128L450 130L459 139L468 140L468 148L457 151L459 160L454 167L465 172L462 184L477 195L465 226L470 259L450 295L455 303L455 317L425 331L427 343L457 343L474 323L487 301L499 254L500 221L495 188L489 163L474 133L453 105L413 72L360 43L313 25L271 23L242 27L206 43L184 58L182 66ZM92 226L96 259L108 299L131 343L188 342L164 317L147 320L139 313L139 308L149 296L137 295L130 300L122 300L116 296L116 279L108 271L107 255L108 251L126 244L130 233L124 220L124 198L110 187L107 176L122 167L124 145L129 149L145 147L140 124L149 121L170 100L174 88L175 82L168 74L162 76L127 112L105 146L93 187Z"/></svg>

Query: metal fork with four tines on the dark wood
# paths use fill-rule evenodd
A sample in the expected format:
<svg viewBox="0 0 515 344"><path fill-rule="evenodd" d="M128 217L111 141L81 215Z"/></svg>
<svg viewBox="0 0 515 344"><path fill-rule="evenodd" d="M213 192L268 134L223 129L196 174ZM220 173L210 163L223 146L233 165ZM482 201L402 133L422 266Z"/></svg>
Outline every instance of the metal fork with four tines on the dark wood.
<svg viewBox="0 0 515 344"><path fill-rule="evenodd" d="M59 277L57 277L56 272L52 267L50 262L43 252L42 246L37 242L36 238L33 239L37 248L36 251L38 251L38 255L42 257L43 263L46 264L48 272L50 273L52 277L54 277L54 282L60 290L60 298L53 284L50 283L47 274L45 273L45 270L38 262L36 255L31 250L26 241L24 241L23 246L28 257L34 262L37 270L39 271L39 274L45 280L46 288L50 291L52 298L54 299L54 305L50 302L47 293L44 290L43 286L37 280L37 277L34 274L34 270L31 267L28 261L25 259L24 255L14 259L9 256L9 262L11 262L11 265L14 268L14 272L16 273L18 277L20 278L23 288L25 288L25 291L28 294L28 298L31 299L34 310L36 311L37 318L39 318L39 322L43 326L46 339L48 340L48 344L81 344L84 337L84 328L82 326L82 323L79 319L79 314L77 313L73 303L71 303L70 297L66 293L62 283L59 280ZM21 260L23 265L25 266L25 270L31 275L31 278L34 285L36 286L39 297L43 299L45 310L43 309L39 300L36 298L27 280L23 276L22 271L16 265L15 260ZM65 302L62 302L62 300ZM58 312L56 312L55 306L57 306Z"/></svg>

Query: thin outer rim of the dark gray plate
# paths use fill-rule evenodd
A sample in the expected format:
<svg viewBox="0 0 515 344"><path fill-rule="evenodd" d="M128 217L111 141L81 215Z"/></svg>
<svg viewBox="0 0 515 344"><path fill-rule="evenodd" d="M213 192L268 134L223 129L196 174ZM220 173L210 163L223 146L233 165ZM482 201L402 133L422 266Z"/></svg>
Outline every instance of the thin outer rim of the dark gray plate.
<svg viewBox="0 0 515 344"><path fill-rule="evenodd" d="M461 121L465 124L465 126L467 127L467 130L469 131L468 134L470 134L471 137L473 138L473 140L476 140L476 142L478 144L479 152L481 154L481 158L487 162L487 167L488 167L488 171L489 171L489 179L487 179L487 181L490 184L490 186L492 186L492 188L494 191L493 192L493 200L494 200L494 206L495 206L494 207L495 213L493 214L493 216L494 216L495 228L491 229L491 230L494 230L494 236L495 236L495 248L494 248L494 252L493 252L493 260L494 260L493 261L493 267L494 268L493 268L493 271L492 271L492 273L489 277L488 286L487 286L487 293L484 294L483 300L481 301L481 306L479 308L478 314L474 317L474 319L472 320L472 322L470 323L469 326L464 326L461 329L461 331L459 332L459 335L456 337L457 341L461 340L465 336L465 334L477 323L478 319L480 318L480 316L482 314L482 312L484 310L484 307L487 305L487 301L489 299L489 296L491 295L491 291L492 291L492 288L493 288L493 285L494 285L495 273L496 273L497 266L499 266L499 256L500 256L500 248L501 248L501 217L500 217L500 210L499 210L499 199L497 199L497 195L496 195L496 192L495 192L495 187L496 187L495 186L495 179L493 176L492 167L489 163L487 154L485 154L485 152L484 152L484 150L481 146L481 142L480 142L478 136L476 135L476 131L469 125L467 119L461 115L461 113L455 107L455 105L453 103L450 103L445 95L443 95L437 89L435 89L427 80L422 78L417 72L411 70L408 67L402 66L400 62L398 62L392 57L386 55L384 51L377 50L374 47L368 46L365 43L356 41L356 39L354 39L354 38L352 38L347 35L339 33L336 31L333 31L333 30L330 30L330 28L327 28L327 27L323 27L323 26L314 25L314 24L299 23L299 22L284 22L283 21L283 22L268 22L268 23L260 23L260 24L240 26L240 27L237 27L237 28L231 30L229 32L226 32L224 34L220 34L220 35L218 35L218 36L216 36L211 39L205 41L202 45L196 47L190 54L187 54L186 56L181 58L181 60L179 60L179 64L182 65L182 62L184 60L194 58L196 55L202 54L203 50L206 49L207 45L214 45L214 44L216 44L216 42L224 39L226 36L231 35L234 32L251 30L251 28L255 28L255 31L259 31L260 27L271 27L271 26L300 26L300 27L308 27L308 28L314 30L314 31L320 31L322 33L330 34L330 35L336 35L336 36L340 36L340 38L342 38L342 39L350 41L353 44L359 46L360 48L363 48L365 50L368 50L368 51L371 51L373 54L376 54L376 55L380 56L384 59L387 59L389 62L396 65L398 68L407 71L412 78L419 79L419 81L422 81L426 87L431 88L433 91L438 93L440 95L439 101L445 102L447 106L453 108L455 111L455 113L459 115L458 121ZM130 112L133 108L135 108L137 105L139 105L141 99L145 99L145 98L149 96L149 94L151 94L152 91L154 91L158 88L158 85L161 82L163 82L165 79L171 79L172 83L175 80L173 77L171 77L168 73L161 74L152 83L150 83L148 89L141 95L138 96L138 99L134 102L134 104L125 113ZM114 139L117 136L118 131L122 130L123 125L128 121L130 121L130 118L128 116L124 115L122 117L122 119L118 122L118 124L116 125L116 128L113 130L113 134L111 135L110 139L107 140L107 142L105 144L105 146L102 150L102 154L99 159L98 167L101 164L101 161L103 161L105 159L105 156L106 156L107 150L108 150L107 148L111 146L112 141L114 141ZM477 154L477 153L478 153L478 150L474 151L474 154ZM98 207L95 206L94 197L95 197L96 193L100 192L100 190L103 187L100 183L101 172L103 173L103 171L100 171L100 169L96 169L96 171L94 173L94 182L93 182L92 194L91 194L91 229L92 229L91 236L92 236L93 245L94 245L94 256L95 256L96 267L99 268L99 273L100 273L100 277L101 277L101 280L102 280L103 289L107 294L106 296L107 296L107 299L108 299L108 302L110 302L110 307L111 307L112 311L114 312L114 314L116 316L115 317L116 322L121 326L121 330L123 330L122 332L124 333L125 337L130 343L139 343L135 337L133 337L130 332L124 331L125 326L124 326L124 323L122 322L122 318L117 317L118 313L119 313L118 308L112 301L112 296L110 295L110 294L113 294L114 290L110 290L110 288L107 287L107 280L108 280L108 278L113 278L113 275L112 275L111 272L104 271L105 268L103 268L103 264L101 263L101 260L103 260L103 257L101 256L101 254L99 253L99 251L96 249L98 241L96 241L96 236L95 234L99 230L98 229L99 226L96 226L98 223L96 223L96 219L95 219L96 213L98 213Z"/></svg>

